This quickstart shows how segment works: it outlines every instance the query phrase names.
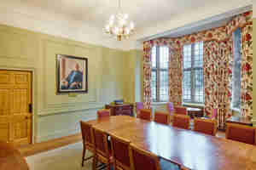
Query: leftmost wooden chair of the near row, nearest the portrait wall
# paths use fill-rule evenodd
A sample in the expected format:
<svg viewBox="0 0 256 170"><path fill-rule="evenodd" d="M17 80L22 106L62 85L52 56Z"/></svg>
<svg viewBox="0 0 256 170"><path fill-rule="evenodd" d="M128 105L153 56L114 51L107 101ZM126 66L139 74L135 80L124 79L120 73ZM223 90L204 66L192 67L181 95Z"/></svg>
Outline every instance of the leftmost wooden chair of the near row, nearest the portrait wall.
<svg viewBox="0 0 256 170"><path fill-rule="evenodd" d="M85 158L86 150L90 150L91 153L95 153L94 138L92 135L92 126L87 122L80 122L82 139L83 139L83 156L82 156L82 167L84 167L84 161L88 161L93 156Z"/></svg>

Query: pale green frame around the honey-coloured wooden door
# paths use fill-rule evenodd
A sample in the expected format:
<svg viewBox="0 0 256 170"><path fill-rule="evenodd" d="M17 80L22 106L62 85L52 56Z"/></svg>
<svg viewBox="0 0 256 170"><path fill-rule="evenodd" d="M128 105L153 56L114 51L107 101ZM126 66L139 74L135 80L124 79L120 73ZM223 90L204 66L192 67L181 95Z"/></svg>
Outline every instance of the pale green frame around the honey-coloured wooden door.
<svg viewBox="0 0 256 170"><path fill-rule="evenodd" d="M35 144L35 68L1 66L1 71L29 71L32 72L32 144Z"/></svg>

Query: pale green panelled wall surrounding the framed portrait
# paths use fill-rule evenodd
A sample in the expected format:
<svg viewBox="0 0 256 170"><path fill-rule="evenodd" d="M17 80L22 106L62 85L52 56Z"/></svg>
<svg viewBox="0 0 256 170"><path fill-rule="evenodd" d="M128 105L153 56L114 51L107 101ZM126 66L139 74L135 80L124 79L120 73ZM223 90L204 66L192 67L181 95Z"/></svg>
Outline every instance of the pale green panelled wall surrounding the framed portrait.
<svg viewBox="0 0 256 170"><path fill-rule="evenodd" d="M78 133L79 120L95 118L106 102L122 99L126 53L0 25L0 68L34 71L37 141ZM55 94L55 54L88 58L88 94Z"/></svg>

